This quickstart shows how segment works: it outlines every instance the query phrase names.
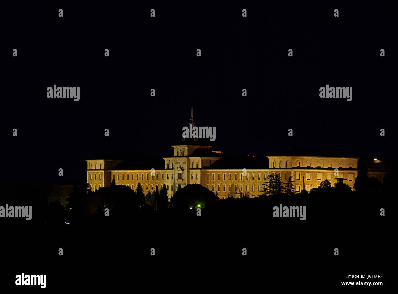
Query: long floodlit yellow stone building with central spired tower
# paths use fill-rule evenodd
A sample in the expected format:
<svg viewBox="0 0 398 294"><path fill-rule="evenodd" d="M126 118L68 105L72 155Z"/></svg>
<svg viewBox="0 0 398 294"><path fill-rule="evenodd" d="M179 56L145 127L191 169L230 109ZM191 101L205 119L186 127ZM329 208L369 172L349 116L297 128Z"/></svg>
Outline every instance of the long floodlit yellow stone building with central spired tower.
<svg viewBox="0 0 398 294"><path fill-rule="evenodd" d="M191 125L193 126L191 116ZM133 190L138 183L144 194L159 190L166 185L171 198L180 184L201 184L213 191L220 199L228 196L256 197L264 194L264 184L269 174L279 174L283 186L292 176L293 189L300 192L318 188L323 180L334 186L337 178L353 188L357 177L357 157L310 155L308 151L290 151L284 155L258 157L230 155L212 151L211 146L200 138L183 138L172 145L173 155L163 157L164 166L147 164L135 165L135 159L125 164L123 159L87 159L87 183L92 190L108 187L112 179L117 185L126 185ZM143 168L146 166L145 168Z"/></svg>

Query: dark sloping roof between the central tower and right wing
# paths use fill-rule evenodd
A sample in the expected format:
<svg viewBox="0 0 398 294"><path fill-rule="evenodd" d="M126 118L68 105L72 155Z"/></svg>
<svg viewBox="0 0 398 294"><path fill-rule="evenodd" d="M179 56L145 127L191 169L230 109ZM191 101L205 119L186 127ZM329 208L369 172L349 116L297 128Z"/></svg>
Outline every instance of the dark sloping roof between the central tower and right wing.
<svg viewBox="0 0 398 294"><path fill-rule="evenodd" d="M222 155L222 158L211 164L207 169L268 169L267 158L236 154L220 155Z"/></svg>

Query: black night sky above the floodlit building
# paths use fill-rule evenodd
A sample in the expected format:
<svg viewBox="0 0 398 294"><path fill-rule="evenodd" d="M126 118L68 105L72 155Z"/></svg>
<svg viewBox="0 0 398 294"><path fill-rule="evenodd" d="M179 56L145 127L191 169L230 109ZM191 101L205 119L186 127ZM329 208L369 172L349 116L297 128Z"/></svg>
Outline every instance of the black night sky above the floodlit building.
<svg viewBox="0 0 398 294"><path fill-rule="evenodd" d="M191 106L215 150L395 157L396 3L67 3L0 6L4 182L84 176L102 153L168 155ZM53 84L80 86L80 101L47 98ZM326 84L353 100L319 98Z"/></svg>

